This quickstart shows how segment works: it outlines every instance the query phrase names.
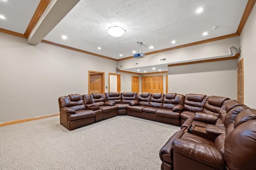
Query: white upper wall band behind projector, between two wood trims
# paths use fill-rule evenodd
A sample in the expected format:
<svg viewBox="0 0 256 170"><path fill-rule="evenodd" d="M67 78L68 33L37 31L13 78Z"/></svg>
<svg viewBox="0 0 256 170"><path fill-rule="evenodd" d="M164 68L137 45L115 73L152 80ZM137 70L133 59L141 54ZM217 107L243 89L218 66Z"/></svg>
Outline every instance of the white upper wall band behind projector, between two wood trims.
<svg viewBox="0 0 256 170"><path fill-rule="evenodd" d="M223 56L229 57L230 55L228 54L228 48L232 46L239 47L239 45L239 36L237 36L162 53L146 55L146 57L140 59L122 60L118 61L118 65L122 65L122 70L124 70L127 68L136 68L165 63L167 66L167 64L180 63L184 61L220 58ZM160 61L162 58L166 58L166 61ZM134 63L139 64L134 66Z"/></svg>

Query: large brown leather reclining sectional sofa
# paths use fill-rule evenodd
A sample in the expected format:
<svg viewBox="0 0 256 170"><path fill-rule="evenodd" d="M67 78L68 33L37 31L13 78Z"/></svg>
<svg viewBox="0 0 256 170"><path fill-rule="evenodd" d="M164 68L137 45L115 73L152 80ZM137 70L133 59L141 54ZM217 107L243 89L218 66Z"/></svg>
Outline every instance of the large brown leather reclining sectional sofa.
<svg viewBox="0 0 256 170"><path fill-rule="evenodd" d="M69 130L117 115L181 126L160 149L162 170L255 170L256 109L202 94L108 92L58 99Z"/></svg>

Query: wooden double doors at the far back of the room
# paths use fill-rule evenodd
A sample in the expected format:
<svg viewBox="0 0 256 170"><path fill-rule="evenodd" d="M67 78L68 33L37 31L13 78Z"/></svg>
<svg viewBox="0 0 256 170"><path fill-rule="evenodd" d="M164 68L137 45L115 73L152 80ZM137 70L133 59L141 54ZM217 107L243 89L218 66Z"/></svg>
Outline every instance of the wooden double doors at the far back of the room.
<svg viewBox="0 0 256 170"><path fill-rule="evenodd" d="M142 92L163 93L163 76L142 77Z"/></svg>

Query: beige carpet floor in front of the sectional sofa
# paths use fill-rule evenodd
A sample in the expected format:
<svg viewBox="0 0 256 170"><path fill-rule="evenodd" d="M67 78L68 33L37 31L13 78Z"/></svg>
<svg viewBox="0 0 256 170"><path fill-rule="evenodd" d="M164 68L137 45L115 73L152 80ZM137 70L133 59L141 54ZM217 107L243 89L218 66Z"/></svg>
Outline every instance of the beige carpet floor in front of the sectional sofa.
<svg viewBox="0 0 256 170"><path fill-rule="evenodd" d="M59 116L0 127L1 170L160 170L180 127L117 116L68 131Z"/></svg>

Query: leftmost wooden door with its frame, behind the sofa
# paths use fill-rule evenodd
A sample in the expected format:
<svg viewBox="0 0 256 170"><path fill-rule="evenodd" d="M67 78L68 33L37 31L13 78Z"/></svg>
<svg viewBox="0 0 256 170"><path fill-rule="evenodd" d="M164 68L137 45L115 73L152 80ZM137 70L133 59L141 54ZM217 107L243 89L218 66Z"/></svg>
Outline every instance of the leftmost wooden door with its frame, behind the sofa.
<svg viewBox="0 0 256 170"><path fill-rule="evenodd" d="M105 93L105 73L88 71L88 94Z"/></svg>

